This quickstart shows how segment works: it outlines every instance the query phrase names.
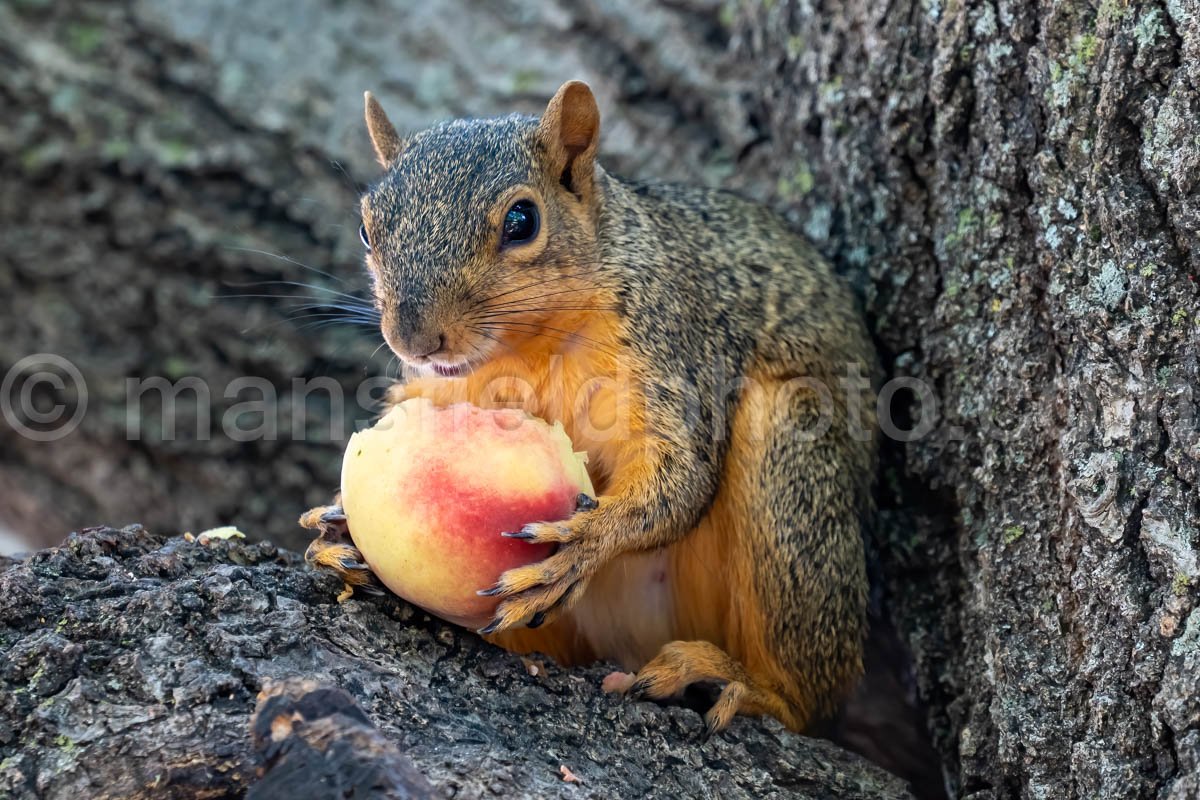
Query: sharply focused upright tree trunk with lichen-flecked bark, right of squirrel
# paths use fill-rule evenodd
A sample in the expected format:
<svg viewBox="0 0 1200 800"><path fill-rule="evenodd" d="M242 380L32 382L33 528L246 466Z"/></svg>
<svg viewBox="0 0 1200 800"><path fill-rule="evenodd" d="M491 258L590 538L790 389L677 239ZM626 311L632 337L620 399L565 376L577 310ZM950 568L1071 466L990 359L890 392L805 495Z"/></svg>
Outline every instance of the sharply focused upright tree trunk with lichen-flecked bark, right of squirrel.
<svg viewBox="0 0 1200 800"><path fill-rule="evenodd" d="M876 545L958 790L1195 796L1200 6L764 2L736 38L775 200L930 390Z"/></svg>

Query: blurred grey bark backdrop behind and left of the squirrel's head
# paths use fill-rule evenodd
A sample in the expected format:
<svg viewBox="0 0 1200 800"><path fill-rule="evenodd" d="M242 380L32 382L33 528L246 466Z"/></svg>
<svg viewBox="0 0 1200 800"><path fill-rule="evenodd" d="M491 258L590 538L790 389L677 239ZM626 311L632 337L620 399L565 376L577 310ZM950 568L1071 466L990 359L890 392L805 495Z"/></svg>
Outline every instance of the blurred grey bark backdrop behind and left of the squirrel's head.
<svg viewBox="0 0 1200 800"><path fill-rule="evenodd" d="M366 296L358 196L378 168L364 90L414 131L538 114L582 78L610 169L762 194L774 181L739 163L757 134L732 14L700 1L5 2L0 367L19 365L8 393L28 384L35 411L0 426L0 548L132 522L302 546L298 515L328 500L341 441L371 419L356 387L395 368L377 331L336 319L346 295ZM78 428L54 440L17 428L53 434L32 417L83 398L60 365L22 362L35 354L86 385ZM127 385L155 377L178 389L174 427L157 389ZM264 435L234 440L223 420Z"/></svg>

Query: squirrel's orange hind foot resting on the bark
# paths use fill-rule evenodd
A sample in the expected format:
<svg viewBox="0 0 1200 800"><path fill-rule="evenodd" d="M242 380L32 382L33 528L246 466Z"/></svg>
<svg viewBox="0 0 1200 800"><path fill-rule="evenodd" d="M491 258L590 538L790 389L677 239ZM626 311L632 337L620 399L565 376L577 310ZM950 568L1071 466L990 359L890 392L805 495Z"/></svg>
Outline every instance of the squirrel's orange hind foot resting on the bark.
<svg viewBox="0 0 1200 800"><path fill-rule="evenodd" d="M745 667L710 642L668 642L629 682L636 699L665 699L700 681L724 681L720 697L704 714L703 738L728 727L738 714L769 714L793 730L803 727L797 709L778 692L756 682Z"/></svg>

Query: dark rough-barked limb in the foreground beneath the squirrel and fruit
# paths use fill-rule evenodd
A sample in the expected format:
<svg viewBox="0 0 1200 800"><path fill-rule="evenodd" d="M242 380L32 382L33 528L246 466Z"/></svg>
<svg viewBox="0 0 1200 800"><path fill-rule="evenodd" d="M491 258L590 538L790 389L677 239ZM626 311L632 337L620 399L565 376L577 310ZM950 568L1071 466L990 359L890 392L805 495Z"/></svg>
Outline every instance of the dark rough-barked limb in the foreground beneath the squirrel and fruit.
<svg viewBox="0 0 1200 800"><path fill-rule="evenodd" d="M371 753L414 796L414 765L455 798L908 796L862 758L775 722L739 718L701 742L698 714L604 694L602 667L533 675L395 599L340 606L337 582L298 561L269 543L98 529L0 573L0 795L343 796L288 774L311 778L318 765L328 777L349 762L342 776L361 789L354 759ZM319 738L331 706L334 739L353 747L306 765L292 747L290 769L269 753L259 783L256 694L294 675L344 688L383 740L368 741L336 692L301 709L300 726L264 703L259 748L280 723Z"/></svg>

